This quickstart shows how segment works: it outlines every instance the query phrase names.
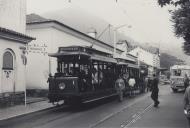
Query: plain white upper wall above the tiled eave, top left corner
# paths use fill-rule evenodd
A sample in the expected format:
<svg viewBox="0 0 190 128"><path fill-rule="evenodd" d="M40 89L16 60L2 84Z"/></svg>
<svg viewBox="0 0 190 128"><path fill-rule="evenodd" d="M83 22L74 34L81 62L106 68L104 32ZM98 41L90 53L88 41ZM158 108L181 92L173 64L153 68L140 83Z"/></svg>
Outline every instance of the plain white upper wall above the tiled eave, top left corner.
<svg viewBox="0 0 190 128"><path fill-rule="evenodd" d="M25 33L26 0L0 0L0 27Z"/></svg>

